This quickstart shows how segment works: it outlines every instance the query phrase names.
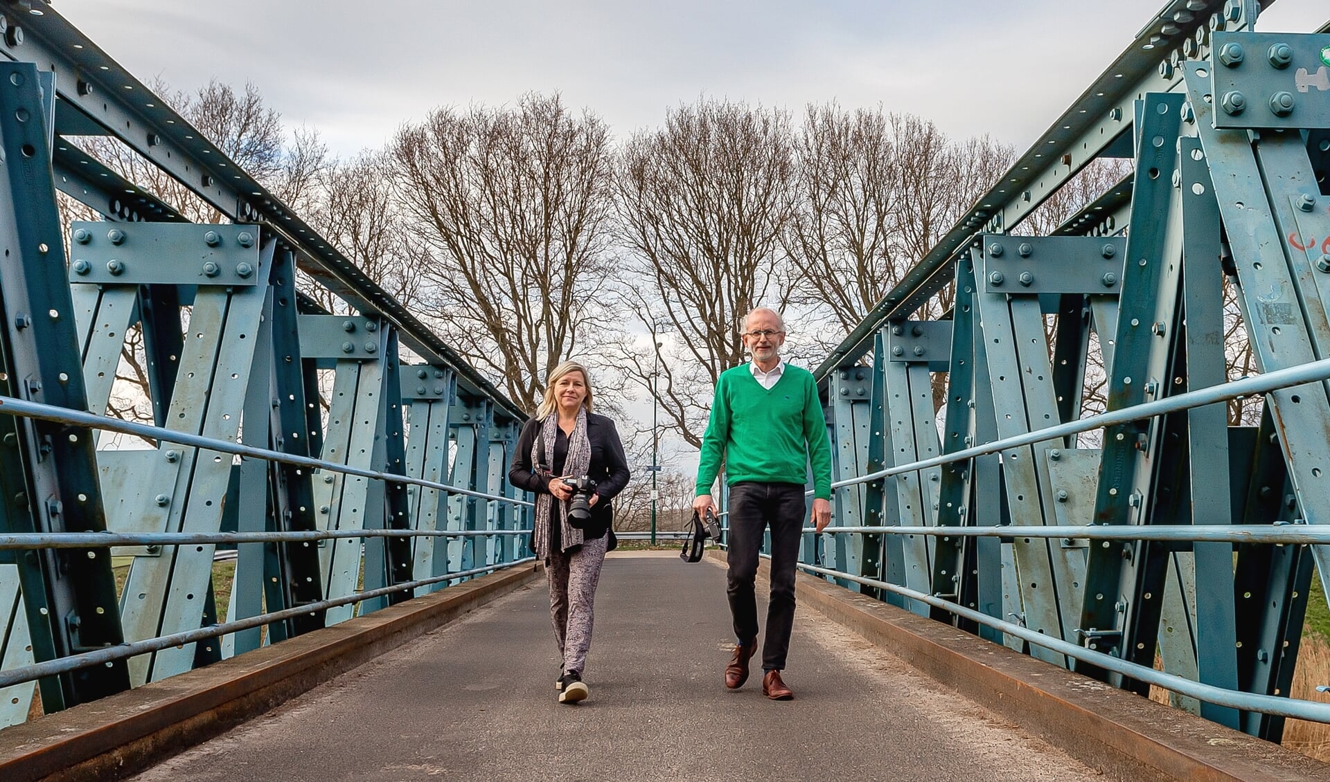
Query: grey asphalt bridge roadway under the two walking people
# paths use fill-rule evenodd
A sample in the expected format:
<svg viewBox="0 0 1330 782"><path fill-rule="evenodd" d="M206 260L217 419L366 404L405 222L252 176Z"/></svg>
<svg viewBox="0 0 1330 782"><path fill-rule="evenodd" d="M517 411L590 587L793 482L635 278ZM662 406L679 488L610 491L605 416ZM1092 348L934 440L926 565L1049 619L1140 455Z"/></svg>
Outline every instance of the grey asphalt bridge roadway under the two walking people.
<svg viewBox="0 0 1330 782"><path fill-rule="evenodd" d="M610 555L577 706L555 702L547 607L540 579L137 779L1097 777L809 608L795 700L767 701L755 677L728 692L710 560Z"/></svg>

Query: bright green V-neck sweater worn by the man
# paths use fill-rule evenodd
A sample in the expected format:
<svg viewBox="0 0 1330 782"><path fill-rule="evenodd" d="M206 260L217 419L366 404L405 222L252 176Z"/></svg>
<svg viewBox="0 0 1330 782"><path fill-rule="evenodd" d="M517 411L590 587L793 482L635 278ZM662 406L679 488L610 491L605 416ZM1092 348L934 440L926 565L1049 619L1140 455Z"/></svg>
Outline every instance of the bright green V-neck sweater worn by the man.
<svg viewBox="0 0 1330 782"><path fill-rule="evenodd" d="M712 493L722 459L729 486L806 483L811 463L813 495L831 499L831 442L813 373L786 364L767 390L747 364L722 372L702 435L698 494Z"/></svg>

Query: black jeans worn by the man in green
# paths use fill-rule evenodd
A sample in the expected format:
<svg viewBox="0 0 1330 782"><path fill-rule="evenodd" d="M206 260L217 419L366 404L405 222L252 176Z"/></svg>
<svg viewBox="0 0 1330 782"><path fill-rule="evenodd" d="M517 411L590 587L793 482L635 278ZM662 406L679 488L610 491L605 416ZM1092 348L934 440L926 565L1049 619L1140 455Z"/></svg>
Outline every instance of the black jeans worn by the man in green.
<svg viewBox="0 0 1330 782"><path fill-rule="evenodd" d="M766 641L762 669L783 670L794 627L794 566L799 560L799 530L807 515L801 483L757 483L741 481L730 486L729 586L734 635L741 643L757 637L758 551L762 532L771 527L771 596L766 608Z"/></svg>

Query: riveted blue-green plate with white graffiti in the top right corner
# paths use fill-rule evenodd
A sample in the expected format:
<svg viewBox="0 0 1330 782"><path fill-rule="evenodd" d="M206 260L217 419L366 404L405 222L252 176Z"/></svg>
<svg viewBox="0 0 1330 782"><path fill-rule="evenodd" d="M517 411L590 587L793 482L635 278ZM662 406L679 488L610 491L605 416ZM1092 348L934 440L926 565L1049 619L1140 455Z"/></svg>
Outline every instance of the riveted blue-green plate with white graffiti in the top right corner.
<svg viewBox="0 0 1330 782"><path fill-rule="evenodd" d="M1214 127L1330 126L1330 35L1214 33Z"/></svg>

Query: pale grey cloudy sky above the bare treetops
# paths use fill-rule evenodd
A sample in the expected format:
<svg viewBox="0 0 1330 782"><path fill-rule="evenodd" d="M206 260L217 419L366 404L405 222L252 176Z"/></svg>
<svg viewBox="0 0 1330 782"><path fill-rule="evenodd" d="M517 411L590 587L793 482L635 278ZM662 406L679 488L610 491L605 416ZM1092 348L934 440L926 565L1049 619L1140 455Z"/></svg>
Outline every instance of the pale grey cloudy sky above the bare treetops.
<svg viewBox="0 0 1330 782"><path fill-rule="evenodd" d="M561 92L620 137L700 96L911 112L1027 147L1162 0L56 0L138 78L254 82L339 154L442 105ZM1310 31L1326 0L1261 29Z"/></svg>

